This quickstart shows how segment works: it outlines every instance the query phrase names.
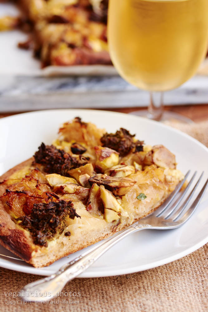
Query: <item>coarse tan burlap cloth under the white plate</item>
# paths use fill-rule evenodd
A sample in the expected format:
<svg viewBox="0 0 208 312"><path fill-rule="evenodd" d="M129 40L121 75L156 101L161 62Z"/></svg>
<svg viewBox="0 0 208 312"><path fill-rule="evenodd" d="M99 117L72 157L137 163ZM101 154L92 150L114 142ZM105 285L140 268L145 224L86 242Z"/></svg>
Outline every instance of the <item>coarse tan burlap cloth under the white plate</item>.
<svg viewBox="0 0 208 312"><path fill-rule="evenodd" d="M208 146L208 122L174 126ZM205 312L208 311L207 256L208 244L186 257L148 271L77 278L65 286L63 294L53 303L26 305L18 302L19 297L14 298L15 292L40 276L1 269L0 311Z"/></svg>

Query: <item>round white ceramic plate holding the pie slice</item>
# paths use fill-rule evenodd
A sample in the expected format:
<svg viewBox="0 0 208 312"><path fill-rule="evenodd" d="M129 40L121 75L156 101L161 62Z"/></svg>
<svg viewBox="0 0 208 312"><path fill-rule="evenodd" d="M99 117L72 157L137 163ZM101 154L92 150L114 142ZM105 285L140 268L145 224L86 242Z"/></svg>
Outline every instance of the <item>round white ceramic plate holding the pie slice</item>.
<svg viewBox="0 0 208 312"><path fill-rule="evenodd" d="M31 157L41 142L50 144L63 122L80 116L100 128L114 132L124 127L136 133L146 144L164 144L177 158L178 168L186 173L205 171L196 190L208 175L208 149L190 136L161 123L133 115L96 110L46 110L0 119L0 175ZM177 260L208 241L208 189L199 207L183 227L169 230L145 230L134 233L101 256L80 277L120 275L147 270ZM90 248L90 247L88 247ZM0 257L0 266L31 274L50 275L60 266L80 255L78 251L45 268L33 268L24 261ZM1 247L0 253L14 256ZM15 256L14 256L15 257Z"/></svg>

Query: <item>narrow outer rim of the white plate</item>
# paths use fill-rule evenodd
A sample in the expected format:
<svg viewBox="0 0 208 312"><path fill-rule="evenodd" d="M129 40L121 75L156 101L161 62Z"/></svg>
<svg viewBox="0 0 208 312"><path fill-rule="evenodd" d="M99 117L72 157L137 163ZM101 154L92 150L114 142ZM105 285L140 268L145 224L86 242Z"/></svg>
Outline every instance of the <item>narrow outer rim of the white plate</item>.
<svg viewBox="0 0 208 312"><path fill-rule="evenodd" d="M122 115L122 116L128 116L128 114L126 113L120 113L120 112L114 112L114 111L109 111L109 110L91 110L91 109L53 109L53 110L37 110L37 111L30 111L30 112L26 112L26 113L21 113L21 114L15 114L15 115L12 115L12 116L7 116L7 117L3 117L0 119L0 123L3 121L3 120L8 120L8 119L18 119L19 116L22 116L22 115L33 115L33 114L42 114L42 113L48 113L48 112L51 112L51 113L55 113L57 111L61 111L61 112L64 112L64 111L67 111L67 112L71 112L72 114L77 114L77 113L85 113L85 112L94 112L96 114L102 114L102 113L105 113L105 114L113 114L113 115ZM130 115L129 115L130 116ZM131 115L131 118L134 118L135 120L137 119L142 119L144 120L143 117L139 117L139 116L134 116L134 115ZM154 121L154 120L145 120L145 122L148 122L150 124L158 124L157 121ZM188 139L191 139L192 141L194 141L196 144L200 145L201 148L203 148L206 153L208 153L208 148L202 144L201 142L199 142L197 139L191 137L189 134L186 134L184 132L182 132L181 130L179 129L175 129L169 125L166 125L166 124L160 124L160 126L162 126L163 128L168 128L170 129L171 131L179 134L179 135L182 135L184 136L185 138L188 138ZM89 277L106 277L106 276L115 276L115 275L124 275L124 274L131 274L131 273L135 273L135 272L140 272L140 271L146 271L148 269L152 269L152 268L156 268L158 266L162 266L164 264L168 264L170 262L173 262L173 261L176 261L178 259L181 259L182 257L184 256L187 256L189 255L190 253L196 251L197 249L201 248L202 246L204 246L206 243L208 242L208 234L206 237L204 237L204 239L200 240L200 242L197 242L196 244L186 248L185 250L183 251L180 251L172 256L169 256L169 257L165 257L164 259L160 259L160 260L157 260L157 261L154 261L154 262L151 262L151 263L147 263L145 265L138 265L138 266L133 266L133 267L128 267L127 268L120 268L118 272L115 272L115 271L112 271L111 269L108 269L107 271L100 271L100 269L96 269L95 271L84 271L83 273L81 273L80 275L78 275L77 277L79 278L89 278ZM5 259L7 261L3 261L0 259L0 266L2 268L6 268L6 269L10 269L10 270L13 270L13 271L18 271L18 272L24 272L24 273L28 273L28 274L35 274L35 275L44 275L44 276L48 276L48 275L51 275L54 270L51 270L50 271L44 271L45 267L44 268L34 268L32 266L21 266L20 264L17 264L17 263L12 263L11 261L9 261L8 259ZM14 267L13 267L14 266ZM42 272L41 272L42 271Z"/></svg>

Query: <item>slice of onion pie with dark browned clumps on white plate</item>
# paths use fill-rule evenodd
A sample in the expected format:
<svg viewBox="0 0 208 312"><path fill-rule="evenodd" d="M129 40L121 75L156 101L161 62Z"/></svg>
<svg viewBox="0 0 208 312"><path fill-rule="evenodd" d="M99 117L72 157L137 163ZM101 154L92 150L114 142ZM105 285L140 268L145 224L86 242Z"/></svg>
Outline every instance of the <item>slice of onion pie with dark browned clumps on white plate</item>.
<svg viewBox="0 0 208 312"><path fill-rule="evenodd" d="M0 242L47 266L148 215L183 177L163 145L76 117L0 178Z"/></svg>

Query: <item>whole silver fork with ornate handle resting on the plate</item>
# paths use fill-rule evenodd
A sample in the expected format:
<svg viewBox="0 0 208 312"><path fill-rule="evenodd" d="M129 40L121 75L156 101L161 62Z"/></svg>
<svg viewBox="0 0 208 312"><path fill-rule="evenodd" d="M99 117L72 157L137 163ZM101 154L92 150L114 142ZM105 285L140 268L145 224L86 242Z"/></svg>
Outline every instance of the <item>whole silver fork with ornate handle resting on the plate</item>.
<svg viewBox="0 0 208 312"><path fill-rule="evenodd" d="M130 233L137 232L143 229L157 229L157 230L168 230L175 229L184 224L192 215L196 207L198 206L208 183L208 179L201 189L200 193L196 197L195 201L185 211L191 197L193 196L198 183L200 182L203 173L196 182L195 186L191 190L190 194L186 197L186 200L179 205L182 198L187 193L191 186L192 181L196 176L196 172L193 174L190 182L186 188L181 191L180 196L177 196L181 186L188 177L190 170L186 173L185 178L181 181L165 202L154 212L147 217L139 220L136 224L133 224L122 231L114 234L113 236L101 241L98 245L92 247L89 251L84 252L79 257L63 265L59 271L52 274L49 277L32 282L22 288L22 298L24 300L31 300L36 302L42 302L43 300L50 300L63 289L65 284L85 271L91 266L105 251L116 244L118 241L123 239ZM174 201L175 199L175 201Z"/></svg>

